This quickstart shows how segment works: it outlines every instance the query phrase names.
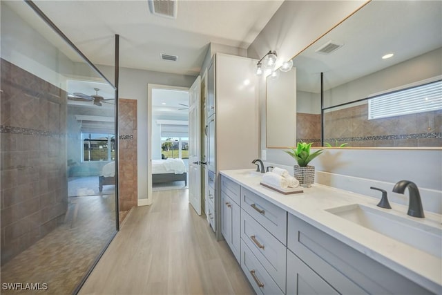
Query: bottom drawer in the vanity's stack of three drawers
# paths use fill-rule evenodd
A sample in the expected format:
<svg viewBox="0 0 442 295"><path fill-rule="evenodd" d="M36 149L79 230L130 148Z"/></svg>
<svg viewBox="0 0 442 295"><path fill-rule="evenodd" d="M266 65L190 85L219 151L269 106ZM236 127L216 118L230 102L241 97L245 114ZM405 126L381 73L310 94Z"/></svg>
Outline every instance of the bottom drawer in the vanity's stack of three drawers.
<svg viewBox="0 0 442 295"><path fill-rule="evenodd" d="M241 240L241 268L256 294L284 294L243 240Z"/></svg>

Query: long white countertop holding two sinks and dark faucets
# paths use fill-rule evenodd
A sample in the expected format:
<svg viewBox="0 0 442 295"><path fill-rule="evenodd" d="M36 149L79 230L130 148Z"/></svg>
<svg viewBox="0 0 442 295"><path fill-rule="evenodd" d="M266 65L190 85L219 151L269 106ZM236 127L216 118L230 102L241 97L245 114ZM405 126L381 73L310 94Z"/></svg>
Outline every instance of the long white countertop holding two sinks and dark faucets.
<svg viewBox="0 0 442 295"><path fill-rule="evenodd" d="M441 292L441 258L378 234L326 210L349 204L363 204L439 229L442 229L441 215L425 211L425 218L413 218L407 215L407 206L390 203L392 209L382 209L376 207L379 202L376 198L321 184L313 184L311 188L305 188L303 193L284 195L260 185L262 174L255 173L253 169L226 170L220 173L415 283L436 294Z"/></svg>

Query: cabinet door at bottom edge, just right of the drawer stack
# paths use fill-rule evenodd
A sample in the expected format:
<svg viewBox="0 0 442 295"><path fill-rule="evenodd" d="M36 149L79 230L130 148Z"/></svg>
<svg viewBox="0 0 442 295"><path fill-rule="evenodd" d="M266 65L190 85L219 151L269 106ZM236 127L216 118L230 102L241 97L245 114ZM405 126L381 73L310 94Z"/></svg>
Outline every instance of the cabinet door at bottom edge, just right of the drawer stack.
<svg viewBox="0 0 442 295"><path fill-rule="evenodd" d="M287 294L339 294L323 278L287 250Z"/></svg>

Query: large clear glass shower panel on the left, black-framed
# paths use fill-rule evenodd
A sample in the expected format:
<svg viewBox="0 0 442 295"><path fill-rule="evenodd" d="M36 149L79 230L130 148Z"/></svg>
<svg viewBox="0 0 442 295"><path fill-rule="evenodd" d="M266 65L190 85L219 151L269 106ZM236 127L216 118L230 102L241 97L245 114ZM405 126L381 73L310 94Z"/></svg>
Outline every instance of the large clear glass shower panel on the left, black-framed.
<svg viewBox="0 0 442 295"><path fill-rule="evenodd" d="M115 92L24 1L0 5L1 292L70 294L117 228Z"/></svg>

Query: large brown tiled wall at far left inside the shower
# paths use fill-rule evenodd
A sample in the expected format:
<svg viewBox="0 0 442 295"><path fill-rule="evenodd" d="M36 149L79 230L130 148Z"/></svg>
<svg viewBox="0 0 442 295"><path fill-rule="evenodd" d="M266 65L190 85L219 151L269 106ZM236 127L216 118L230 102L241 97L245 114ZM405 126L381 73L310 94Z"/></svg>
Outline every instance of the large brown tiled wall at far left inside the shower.
<svg viewBox="0 0 442 295"><path fill-rule="evenodd" d="M1 265L68 206L66 92L1 59Z"/></svg>

